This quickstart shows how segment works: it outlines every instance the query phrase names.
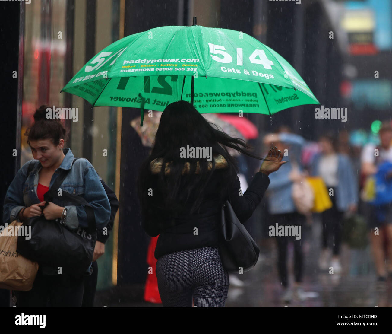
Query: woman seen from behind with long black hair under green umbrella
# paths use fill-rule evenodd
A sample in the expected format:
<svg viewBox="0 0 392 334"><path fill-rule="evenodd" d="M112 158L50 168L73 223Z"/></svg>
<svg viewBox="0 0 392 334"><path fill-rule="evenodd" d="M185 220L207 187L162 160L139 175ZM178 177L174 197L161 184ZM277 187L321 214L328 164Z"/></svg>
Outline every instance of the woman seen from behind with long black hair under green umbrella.
<svg viewBox="0 0 392 334"><path fill-rule="evenodd" d="M227 199L241 223L252 216L269 185L268 175L285 163L271 149L243 194L231 147L256 159L250 146L214 128L188 102L168 105L154 147L142 163L138 196L143 228L159 234L156 276L163 306L223 307L229 275L218 250L220 212Z"/></svg>

